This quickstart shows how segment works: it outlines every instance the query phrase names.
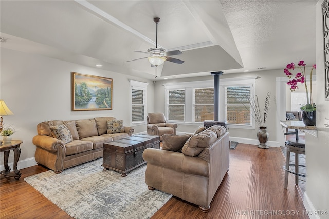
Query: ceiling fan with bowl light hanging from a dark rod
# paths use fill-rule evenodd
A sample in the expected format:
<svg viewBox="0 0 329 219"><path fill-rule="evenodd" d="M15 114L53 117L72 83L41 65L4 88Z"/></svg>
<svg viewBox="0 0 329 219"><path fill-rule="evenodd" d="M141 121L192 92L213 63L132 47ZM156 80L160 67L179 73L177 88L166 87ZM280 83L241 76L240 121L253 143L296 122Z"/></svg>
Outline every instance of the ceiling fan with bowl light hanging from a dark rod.
<svg viewBox="0 0 329 219"><path fill-rule="evenodd" d="M153 18L153 21L156 23L156 44L155 44L155 48L148 49L148 52L136 51L136 50L134 51L134 52L150 54L151 56L143 57L143 58L137 58L137 59L133 59L133 60L130 60L130 61L127 61L127 62L148 58L149 62L151 63L151 67L162 65L165 61L169 61L169 62L173 62L173 63L177 63L177 64L184 63L184 61L182 61L180 59L169 57L171 55L182 54L181 51L173 50L173 51L168 51L167 52L166 49L158 48L158 23L160 22L160 18L155 17L155 18Z"/></svg>

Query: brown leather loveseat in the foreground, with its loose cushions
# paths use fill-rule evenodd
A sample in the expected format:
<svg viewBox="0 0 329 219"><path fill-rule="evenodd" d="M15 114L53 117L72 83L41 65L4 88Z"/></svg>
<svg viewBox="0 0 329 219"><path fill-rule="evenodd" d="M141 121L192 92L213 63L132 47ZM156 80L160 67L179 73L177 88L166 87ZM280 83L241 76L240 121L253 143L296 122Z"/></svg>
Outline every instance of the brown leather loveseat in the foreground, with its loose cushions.
<svg viewBox="0 0 329 219"><path fill-rule="evenodd" d="M208 212L229 168L229 147L223 126L193 136L163 135L162 150L144 150L145 183L150 190L170 193Z"/></svg>

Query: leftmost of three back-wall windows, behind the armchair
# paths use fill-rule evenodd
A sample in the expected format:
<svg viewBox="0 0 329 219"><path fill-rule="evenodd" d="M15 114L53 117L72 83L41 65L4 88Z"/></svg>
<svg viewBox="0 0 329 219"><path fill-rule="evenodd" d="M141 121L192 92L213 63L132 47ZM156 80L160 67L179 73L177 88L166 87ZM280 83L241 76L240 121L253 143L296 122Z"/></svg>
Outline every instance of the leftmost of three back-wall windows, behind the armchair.
<svg viewBox="0 0 329 219"><path fill-rule="evenodd" d="M185 90L168 90L167 92L168 120L184 121Z"/></svg>

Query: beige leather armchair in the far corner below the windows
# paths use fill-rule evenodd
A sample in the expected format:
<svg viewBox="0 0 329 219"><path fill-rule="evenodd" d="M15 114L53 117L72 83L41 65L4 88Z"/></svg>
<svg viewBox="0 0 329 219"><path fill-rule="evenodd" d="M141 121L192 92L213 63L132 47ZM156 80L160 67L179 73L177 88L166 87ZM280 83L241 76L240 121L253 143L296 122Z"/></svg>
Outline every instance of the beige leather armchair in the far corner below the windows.
<svg viewBox="0 0 329 219"><path fill-rule="evenodd" d="M148 113L147 131L148 134L159 135L162 141L163 134L176 134L176 123L167 123L165 114L162 112Z"/></svg>

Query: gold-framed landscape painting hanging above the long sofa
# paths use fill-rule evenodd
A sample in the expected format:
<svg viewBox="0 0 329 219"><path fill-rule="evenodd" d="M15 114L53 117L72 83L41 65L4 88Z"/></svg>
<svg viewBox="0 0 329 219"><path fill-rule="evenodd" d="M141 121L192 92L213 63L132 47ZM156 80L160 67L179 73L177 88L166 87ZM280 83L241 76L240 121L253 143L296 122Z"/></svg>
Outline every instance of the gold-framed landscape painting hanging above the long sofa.
<svg viewBox="0 0 329 219"><path fill-rule="evenodd" d="M112 110L113 79L72 72L72 111Z"/></svg>

